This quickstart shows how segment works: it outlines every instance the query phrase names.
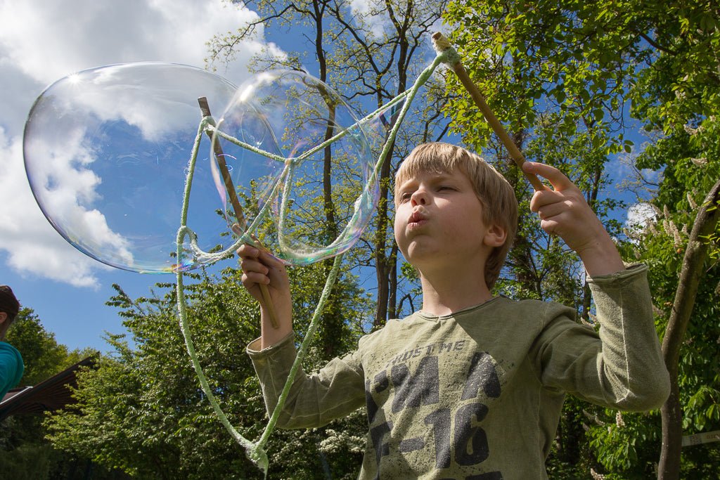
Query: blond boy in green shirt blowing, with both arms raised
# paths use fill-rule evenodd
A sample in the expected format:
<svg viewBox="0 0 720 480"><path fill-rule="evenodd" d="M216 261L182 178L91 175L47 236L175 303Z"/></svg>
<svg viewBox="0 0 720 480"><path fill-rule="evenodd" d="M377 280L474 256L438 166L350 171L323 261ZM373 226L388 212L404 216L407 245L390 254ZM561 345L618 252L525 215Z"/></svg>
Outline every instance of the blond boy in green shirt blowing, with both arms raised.
<svg viewBox="0 0 720 480"><path fill-rule="evenodd" d="M670 384L644 266L626 269L598 217L550 166L531 210L590 276L600 333L559 304L490 293L513 242L517 202L505 178L467 150L415 148L395 181L395 240L418 270L423 306L359 340L318 373L300 371L278 425L319 427L365 404L361 479L536 479L566 392L600 405L660 407ZM238 249L243 284L269 286L279 327L261 309L248 353L272 411L295 350L287 274L268 253Z"/></svg>

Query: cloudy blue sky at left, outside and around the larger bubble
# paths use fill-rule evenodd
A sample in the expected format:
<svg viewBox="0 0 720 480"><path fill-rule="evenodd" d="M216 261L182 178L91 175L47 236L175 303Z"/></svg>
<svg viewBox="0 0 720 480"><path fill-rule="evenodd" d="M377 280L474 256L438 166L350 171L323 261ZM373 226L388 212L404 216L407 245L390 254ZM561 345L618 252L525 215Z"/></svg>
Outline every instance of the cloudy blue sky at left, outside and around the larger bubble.
<svg viewBox="0 0 720 480"><path fill-rule="evenodd" d="M255 14L221 0L0 0L0 284L35 310L68 348L107 350L104 332L122 332L105 306L120 284L148 295L158 281L109 268L69 245L45 219L24 171L22 135L32 102L50 83L112 63L156 60L204 67L206 42L235 31ZM218 73L240 83L247 59L266 46L258 37ZM269 45L274 48L273 45Z"/></svg>

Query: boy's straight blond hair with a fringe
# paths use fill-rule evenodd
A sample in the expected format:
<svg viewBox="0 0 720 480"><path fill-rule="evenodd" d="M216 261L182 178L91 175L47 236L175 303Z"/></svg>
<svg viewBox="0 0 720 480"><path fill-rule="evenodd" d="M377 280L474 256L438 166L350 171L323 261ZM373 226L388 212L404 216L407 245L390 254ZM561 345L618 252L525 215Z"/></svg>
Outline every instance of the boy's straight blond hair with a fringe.
<svg viewBox="0 0 720 480"><path fill-rule="evenodd" d="M418 145L402 162L395 174L395 205L397 189L421 172L452 173L461 171L472 184L482 205L482 222L505 230L505 243L496 247L485 263L485 283L492 289L500 275L518 227L518 201L505 177L489 163L464 148L449 143L433 142ZM479 240L480 241L480 240Z"/></svg>

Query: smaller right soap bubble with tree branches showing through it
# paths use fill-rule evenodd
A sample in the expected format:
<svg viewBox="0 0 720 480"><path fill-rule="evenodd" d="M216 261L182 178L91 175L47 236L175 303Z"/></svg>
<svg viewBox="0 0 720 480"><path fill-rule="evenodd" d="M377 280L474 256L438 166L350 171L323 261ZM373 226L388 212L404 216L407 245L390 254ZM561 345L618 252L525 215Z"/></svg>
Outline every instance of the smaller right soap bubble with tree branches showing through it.
<svg viewBox="0 0 720 480"><path fill-rule="evenodd" d="M243 83L217 120L212 148L230 166L270 159L282 170L269 191L272 218L238 223L288 263L343 253L372 217L379 188L364 128L335 91L306 73L270 71ZM228 218L233 213L228 198Z"/></svg>

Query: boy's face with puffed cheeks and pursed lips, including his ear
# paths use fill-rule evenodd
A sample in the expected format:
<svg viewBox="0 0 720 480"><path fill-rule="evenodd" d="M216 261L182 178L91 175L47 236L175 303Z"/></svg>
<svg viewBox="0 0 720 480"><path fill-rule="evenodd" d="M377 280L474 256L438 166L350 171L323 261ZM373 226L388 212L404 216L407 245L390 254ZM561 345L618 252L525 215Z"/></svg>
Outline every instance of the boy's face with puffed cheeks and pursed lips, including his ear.
<svg viewBox="0 0 720 480"><path fill-rule="evenodd" d="M395 240L413 266L482 261L505 232L482 221L482 204L462 171L423 172L397 189ZM499 242L499 243L498 243Z"/></svg>

